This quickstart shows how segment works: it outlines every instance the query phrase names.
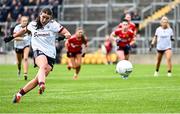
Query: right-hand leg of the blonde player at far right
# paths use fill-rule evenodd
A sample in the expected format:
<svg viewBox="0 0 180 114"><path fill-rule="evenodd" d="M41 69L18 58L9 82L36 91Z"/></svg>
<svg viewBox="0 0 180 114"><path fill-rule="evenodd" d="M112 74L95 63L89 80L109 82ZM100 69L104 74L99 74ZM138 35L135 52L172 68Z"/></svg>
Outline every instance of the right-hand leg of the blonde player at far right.
<svg viewBox="0 0 180 114"><path fill-rule="evenodd" d="M171 70L172 70L172 63L171 63L171 57L172 57L172 51L171 49L168 49L165 51L166 55L166 62L167 62L167 70L168 70L168 76L171 76Z"/></svg>

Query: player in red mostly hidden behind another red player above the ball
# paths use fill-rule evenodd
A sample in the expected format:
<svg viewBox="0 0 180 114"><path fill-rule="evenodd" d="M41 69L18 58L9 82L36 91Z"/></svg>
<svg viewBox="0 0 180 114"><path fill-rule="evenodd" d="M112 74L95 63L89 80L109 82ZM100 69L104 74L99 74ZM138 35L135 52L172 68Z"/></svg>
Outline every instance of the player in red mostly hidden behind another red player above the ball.
<svg viewBox="0 0 180 114"><path fill-rule="evenodd" d="M131 15L130 15L129 13L127 13L127 14L125 15L125 18L124 18L124 19L126 19L126 20L128 21L128 28L133 31L134 35L136 35L137 29L136 29L136 25L135 25L133 22L131 22ZM122 23L120 23L120 24L118 25L118 28L122 28Z"/></svg>

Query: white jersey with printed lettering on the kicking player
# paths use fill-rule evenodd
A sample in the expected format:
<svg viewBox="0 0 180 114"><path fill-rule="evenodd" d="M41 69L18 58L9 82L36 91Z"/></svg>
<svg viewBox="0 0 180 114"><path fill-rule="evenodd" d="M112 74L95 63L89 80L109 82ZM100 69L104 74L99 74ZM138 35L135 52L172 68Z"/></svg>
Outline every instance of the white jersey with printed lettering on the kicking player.
<svg viewBox="0 0 180 114"><path fill-rule="evenodd" d="M31 31L31 46L33 51L40 50L45 55L56 58L55 40L56 35L63 29L58 22L51 20L43 28L36 29L37 22L32 21L27 26L27 29Z"/></svg>

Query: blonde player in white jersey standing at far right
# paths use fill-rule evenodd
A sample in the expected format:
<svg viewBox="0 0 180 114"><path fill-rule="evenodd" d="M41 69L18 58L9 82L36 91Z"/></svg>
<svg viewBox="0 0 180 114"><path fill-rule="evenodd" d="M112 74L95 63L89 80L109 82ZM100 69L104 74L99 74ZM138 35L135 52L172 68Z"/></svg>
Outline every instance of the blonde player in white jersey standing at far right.
<svg viewBox="0 0 180 114"><path fill-rule="evenodd" d="M157 42L157 62L156 62L156 71L154 72L154 76L159 75L159 68L161 64L161 60L163 54L165 53L166 62L167 62L167 76L171 76L172 64L171 64L171 57L172 57L172 46L171 41L173 41L173 30L169 25L169 21L167 17L162 17L160 21L161 26L156 29L155 36L151 42L151 47Z"/></svg>

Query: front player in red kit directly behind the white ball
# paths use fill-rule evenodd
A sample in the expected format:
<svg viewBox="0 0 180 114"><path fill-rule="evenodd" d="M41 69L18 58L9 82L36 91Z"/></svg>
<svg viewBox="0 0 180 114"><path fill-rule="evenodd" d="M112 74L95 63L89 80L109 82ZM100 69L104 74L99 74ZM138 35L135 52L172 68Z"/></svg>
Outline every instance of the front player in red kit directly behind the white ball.
<svg viewBox="0 0 180 114"><path fill-rule="evenodd" d="M128 27L128 21L126 19L123 20L121 28L117 28L112 32L111 37L116 41L119 60L128 60L129 51L135 43L135 38L133 31Z"/></svg>

